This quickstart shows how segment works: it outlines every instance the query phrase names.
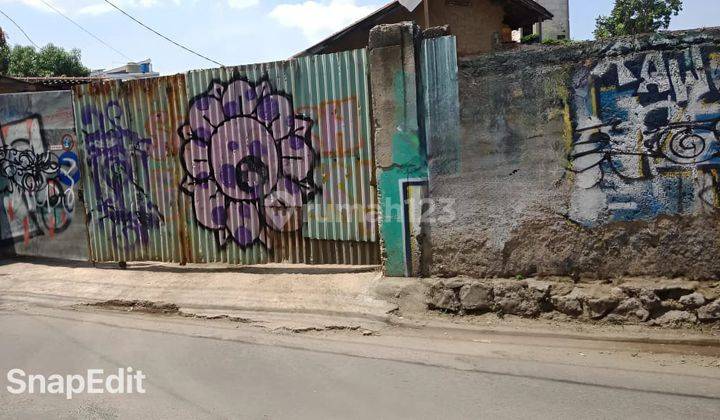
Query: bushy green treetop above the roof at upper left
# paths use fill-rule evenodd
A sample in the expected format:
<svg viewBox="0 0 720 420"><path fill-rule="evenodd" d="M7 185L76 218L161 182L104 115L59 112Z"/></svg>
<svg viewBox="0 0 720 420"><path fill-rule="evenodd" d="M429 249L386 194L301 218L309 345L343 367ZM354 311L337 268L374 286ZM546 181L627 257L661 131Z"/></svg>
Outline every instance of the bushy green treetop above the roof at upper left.
<svg viewBox="0 0 720 420"><path fill-rule="evenodd" d="M66 51L48 44L36 51L16 45L10 51L8 75L17 77L87 76L90 70L80 60L80 50Z"/></svg>

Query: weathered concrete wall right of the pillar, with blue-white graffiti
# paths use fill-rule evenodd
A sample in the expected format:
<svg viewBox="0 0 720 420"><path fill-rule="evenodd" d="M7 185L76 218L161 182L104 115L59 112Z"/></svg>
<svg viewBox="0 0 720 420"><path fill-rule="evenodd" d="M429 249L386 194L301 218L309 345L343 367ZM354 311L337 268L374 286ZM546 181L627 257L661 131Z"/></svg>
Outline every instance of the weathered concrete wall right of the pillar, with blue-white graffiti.
<svg viewBox="0 0 720 420"><path fill-rule="evenodd" d="M720 278L720 30L460 63L431 274ZM432 145L429 145L432 147Z"/></svg>

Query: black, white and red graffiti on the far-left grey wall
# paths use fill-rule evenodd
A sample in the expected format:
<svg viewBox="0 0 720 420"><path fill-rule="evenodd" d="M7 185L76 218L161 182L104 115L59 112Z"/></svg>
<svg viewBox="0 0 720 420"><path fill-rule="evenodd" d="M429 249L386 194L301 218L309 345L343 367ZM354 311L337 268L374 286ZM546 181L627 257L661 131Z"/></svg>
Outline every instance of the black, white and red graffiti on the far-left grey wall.
<svg viewBox="0 0 720 420"><path fill-rule="evenodd" d="M28 245L51 239L72 223L80 172L72 134L50 150L41 115L0 121L0 195L6 221L2 241Z"/></svg>

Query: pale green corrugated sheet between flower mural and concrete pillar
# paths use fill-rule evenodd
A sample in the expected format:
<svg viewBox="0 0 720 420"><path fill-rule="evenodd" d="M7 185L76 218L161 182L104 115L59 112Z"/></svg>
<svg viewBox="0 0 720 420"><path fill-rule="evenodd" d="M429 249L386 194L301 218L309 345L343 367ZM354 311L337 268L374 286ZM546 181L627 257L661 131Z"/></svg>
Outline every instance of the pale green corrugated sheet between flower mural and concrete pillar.
<svg viewBox="0 0 720 420"><path fill-rule="evenodd" d="M376 241L376 191L365 50L308 56L293 63L299 110L316 122L313 143L322 187L308 210L306 234Z"/></svg>

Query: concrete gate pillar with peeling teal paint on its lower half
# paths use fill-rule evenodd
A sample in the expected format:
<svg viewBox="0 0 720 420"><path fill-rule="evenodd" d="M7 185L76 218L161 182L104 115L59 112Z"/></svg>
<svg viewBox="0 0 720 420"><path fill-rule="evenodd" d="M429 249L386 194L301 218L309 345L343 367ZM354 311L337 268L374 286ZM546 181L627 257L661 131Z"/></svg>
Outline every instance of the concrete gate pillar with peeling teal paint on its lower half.
<svg viewBox="0 0 720 420"><path fill-rule="evenodd" d="M427 156L418 121L418 27L404 22L370 32L379 227L385 273L419 275Z"/></svg>

